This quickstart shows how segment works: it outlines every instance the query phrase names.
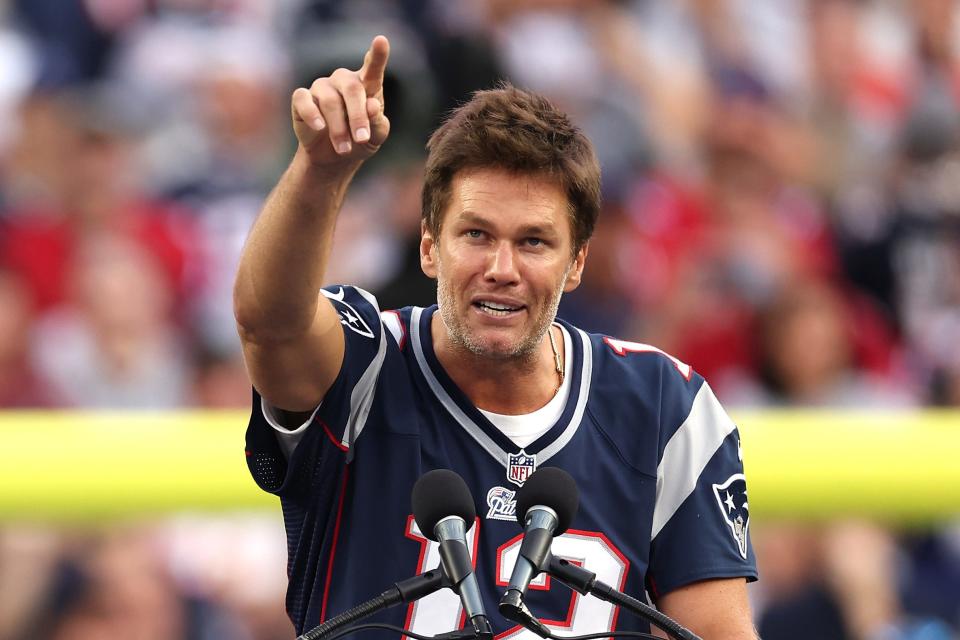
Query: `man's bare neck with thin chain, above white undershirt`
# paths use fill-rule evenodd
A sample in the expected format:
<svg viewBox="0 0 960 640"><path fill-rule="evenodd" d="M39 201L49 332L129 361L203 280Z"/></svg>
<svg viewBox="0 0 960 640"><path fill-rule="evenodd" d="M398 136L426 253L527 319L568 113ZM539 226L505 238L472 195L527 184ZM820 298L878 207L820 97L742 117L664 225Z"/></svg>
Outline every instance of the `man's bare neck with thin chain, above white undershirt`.
<svg viewBox="0 0 960 640"><path fill-rule="evenodd" d="M546 405L563 381L563 332L551 325L556 355L548 335L529 358L495 359L478 355L450 340L439 313L431 318L433 348L447 375L485 411L523 415ZM558 371L557 363L560 363Z"/></svg>

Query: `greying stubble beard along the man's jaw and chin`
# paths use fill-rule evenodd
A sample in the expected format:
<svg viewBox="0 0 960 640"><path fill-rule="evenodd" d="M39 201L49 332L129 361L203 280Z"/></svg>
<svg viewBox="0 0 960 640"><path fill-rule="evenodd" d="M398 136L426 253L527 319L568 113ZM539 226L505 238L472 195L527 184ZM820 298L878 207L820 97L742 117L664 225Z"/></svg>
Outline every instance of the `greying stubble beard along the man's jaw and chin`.
<svg viewBox="0 0 960 640"><path fill-rule="evenodd" d="M551 296L551 299L543 307L543 311L534 320L530 332L522 336L520 342L512 349L501 350L493 349L485 341L472 334L467 328L466 323L462 322L457 315L457 298L454 295L450 282L445 278L437 279L437 304L440 311L440 319L447 329L447 335L455 348L460 348L472 353L475 356L486 357L496 360L517 360L525 364L534 361L537 348L543 341L550 325L557 317L557 310L560 308L560 298L563 295L563 286L567 281L567 275L570 269L564 272L563 279L560 281L557 290Z"/></svg>

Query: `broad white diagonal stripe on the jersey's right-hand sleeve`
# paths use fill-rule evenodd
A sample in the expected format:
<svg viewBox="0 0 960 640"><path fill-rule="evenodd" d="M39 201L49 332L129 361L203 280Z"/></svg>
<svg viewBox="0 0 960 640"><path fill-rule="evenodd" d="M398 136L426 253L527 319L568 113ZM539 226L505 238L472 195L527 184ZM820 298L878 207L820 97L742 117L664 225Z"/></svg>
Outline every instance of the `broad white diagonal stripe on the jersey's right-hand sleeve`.
<svg viewBox="0 0 960 640"><path fill-rule="evenodd" d="M704 467L736 425L704 382L690 415L667 442L657 466L657 502L653 509L653 540L683 501L693 493Z"/></svg>

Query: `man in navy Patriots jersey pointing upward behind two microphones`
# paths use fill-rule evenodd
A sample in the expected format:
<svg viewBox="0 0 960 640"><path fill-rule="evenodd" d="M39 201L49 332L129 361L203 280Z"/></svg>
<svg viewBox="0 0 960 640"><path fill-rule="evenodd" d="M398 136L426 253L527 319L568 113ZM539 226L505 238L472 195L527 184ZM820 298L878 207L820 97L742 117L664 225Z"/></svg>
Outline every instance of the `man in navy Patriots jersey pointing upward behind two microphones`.
<svg viewBox="0 0 960 640"><path fill-rule="evenodd" d="M705 638L754 638L735 426L682 362L555 320L600 208L593 149L564 114L504 87L477 93L431 137L420 250L439 308L381 311L360 289L320 290L347 186L389 133L388 51L378 36L359 71L293 93L300 146L236 282L255 387L248 461L281 498L298 632L437 566L409 492L443 467L480 506L468 537L495 632L529 637L496 603L520 544L515 493L549 464L582 494L555 554L646 590ZM561 633L646 628L542 579L527 603ZM449 591L391 613L425 634L462 621Z"/></svg>

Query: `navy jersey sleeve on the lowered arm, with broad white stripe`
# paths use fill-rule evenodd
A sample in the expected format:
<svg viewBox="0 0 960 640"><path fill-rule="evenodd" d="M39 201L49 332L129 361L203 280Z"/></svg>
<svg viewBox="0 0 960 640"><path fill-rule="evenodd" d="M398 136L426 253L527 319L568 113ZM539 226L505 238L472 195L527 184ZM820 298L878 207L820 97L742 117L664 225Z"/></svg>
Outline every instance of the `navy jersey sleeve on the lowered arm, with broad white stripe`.
<svg viewBox="0 0 960 640"><path fill-rule="evenodd" d="M756 580L736 425L698 375L673 376L661 393L648 591L657 598L698 580Z"/></svg>

